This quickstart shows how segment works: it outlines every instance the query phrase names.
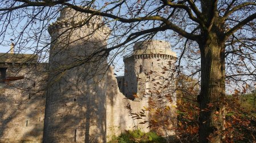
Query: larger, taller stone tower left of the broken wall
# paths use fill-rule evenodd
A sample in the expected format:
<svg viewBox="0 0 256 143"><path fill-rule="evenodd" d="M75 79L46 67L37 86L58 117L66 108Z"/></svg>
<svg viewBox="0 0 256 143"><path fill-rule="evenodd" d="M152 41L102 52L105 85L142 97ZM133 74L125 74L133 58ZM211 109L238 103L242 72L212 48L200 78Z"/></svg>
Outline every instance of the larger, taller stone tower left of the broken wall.
<svg viewBox="0 0 256 143"><path fill-rule="evenodd" d="M43 142L106 142L106 55L93 53L106 48L108 28L100 16L64 8L48 31L52 45Z"/></svg>

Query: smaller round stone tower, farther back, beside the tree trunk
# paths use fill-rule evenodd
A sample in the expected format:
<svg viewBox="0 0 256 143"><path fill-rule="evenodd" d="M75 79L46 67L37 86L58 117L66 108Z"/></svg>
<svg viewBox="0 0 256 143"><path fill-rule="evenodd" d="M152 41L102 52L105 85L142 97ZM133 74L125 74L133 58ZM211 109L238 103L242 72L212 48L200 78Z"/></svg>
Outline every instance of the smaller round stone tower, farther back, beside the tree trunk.
<svg viewBox="0 0 256 143"><path fill-rule="evenodd" d="M176 124L174 64L176 54L166 41L137 42L133 54L124 57L124 91L127 98L147 101L151 120L158 120L156 132L172 134ZM159 114L160 113L160 114ZM160 122L161 121L161 122ZM168 123L167 123L167 122Z"/></svg>

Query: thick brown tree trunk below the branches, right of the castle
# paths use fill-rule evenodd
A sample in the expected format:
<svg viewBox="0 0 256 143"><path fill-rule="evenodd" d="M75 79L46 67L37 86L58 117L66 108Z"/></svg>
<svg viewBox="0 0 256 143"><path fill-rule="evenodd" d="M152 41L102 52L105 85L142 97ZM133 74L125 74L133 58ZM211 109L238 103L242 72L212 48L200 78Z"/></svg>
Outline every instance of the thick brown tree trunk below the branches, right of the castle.
<svg viewBox="0 0 256 143"><path fill-rule="evenodd" d="M225 97L224 44L216 33L199 43L201 51L201 94L199 142L221 142L225 115L222 101Z"/></svg>

